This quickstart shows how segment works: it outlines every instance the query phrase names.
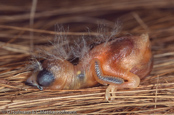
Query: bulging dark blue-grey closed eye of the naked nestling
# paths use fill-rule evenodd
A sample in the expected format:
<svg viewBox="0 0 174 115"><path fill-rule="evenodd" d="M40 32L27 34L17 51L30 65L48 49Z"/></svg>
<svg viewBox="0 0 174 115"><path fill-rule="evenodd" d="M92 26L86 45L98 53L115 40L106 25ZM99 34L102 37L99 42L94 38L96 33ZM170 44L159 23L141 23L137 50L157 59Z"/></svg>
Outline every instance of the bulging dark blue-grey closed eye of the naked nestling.
<svg viewBox="0 0 174 115"><path fill-rule="evenodd" d="M54 81L54 75L46 69L43 69L37 75L37 83L40 86L49 86Z"/></svg>

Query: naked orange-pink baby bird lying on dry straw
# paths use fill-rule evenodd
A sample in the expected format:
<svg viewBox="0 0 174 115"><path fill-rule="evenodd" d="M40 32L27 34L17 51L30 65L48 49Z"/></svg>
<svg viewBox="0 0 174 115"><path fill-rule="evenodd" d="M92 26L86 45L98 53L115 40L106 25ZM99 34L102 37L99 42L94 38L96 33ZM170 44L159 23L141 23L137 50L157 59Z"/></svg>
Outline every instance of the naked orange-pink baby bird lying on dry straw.
<svg viewBox="0 0 174 115"><path fill-rule="evenodd" d="M96 84L109 85L110 91L136 88L152 70L148 34L115 38L92 48L77 65L67 60L47 59L27 83L43 89L80 89Z"/></svg>

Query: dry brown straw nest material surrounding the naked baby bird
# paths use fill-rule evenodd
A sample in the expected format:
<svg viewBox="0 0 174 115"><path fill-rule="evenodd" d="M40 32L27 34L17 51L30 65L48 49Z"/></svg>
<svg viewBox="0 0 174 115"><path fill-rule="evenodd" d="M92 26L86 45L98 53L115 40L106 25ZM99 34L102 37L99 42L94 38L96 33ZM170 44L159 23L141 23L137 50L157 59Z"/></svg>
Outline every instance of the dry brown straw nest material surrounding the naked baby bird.
<svg viewBox="0 0 174 115"><path fill-rule="evenodd" d="M0 110L3 112L63 111L88 114L172 114L174 113L174 2L154 1L31 1L7 0L0 8ZM34 2L34 0L33 0ZM35 12L31 9L36 8ZM34 11L34 10L33 10ZM30 15L32 14L33 15ZM34 20L31 21L31 20ZM39 91L26 86L30 74L25 64L35 49L54 40L55 24L69 26L65 34L72 41L79 36L96 37L98 23L118 34L148 33L154 67L134 89L116 93L116 102L104 101L106 86L80 90ZM30 21L30 24L29 24ZM31 29L34 28L34 29ZM70 41L71 41L70 40ZM46 48L48 48L46 46ZM31 49L33 52L31 53ZM49 48L48 48L49 49Z"/></svg>

